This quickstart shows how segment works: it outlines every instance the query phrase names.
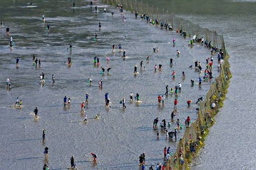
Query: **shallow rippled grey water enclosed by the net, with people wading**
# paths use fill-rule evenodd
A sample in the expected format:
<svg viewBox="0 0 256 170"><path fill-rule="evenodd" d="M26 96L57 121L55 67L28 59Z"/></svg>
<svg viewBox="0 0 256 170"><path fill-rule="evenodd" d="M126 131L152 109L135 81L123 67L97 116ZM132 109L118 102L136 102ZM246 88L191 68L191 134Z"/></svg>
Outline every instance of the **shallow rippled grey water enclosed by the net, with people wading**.
<svg viewBox="0 0 256 170"><path fill-rule="evenodd" d="M40 169L48 163L50 169L63 169L70 166L70 157L75 156L79 169L137 169L139 155L146 153L147 165L163 163L163 148L170 146L172 152L177 142L165 139L160 132L156 139L153 120L170 121L175 95L165 96L165 107L157 105L157 96L165 94L165 86L174 87L182 84L182 91L176 98L179 101L175 120L179 118L184 124L189 115L195 120L200 96L205 96L212 82L203 82L202 88L191 87L190 80L198 83L202 76L189 66L196 60L202 62L210 52L196 44L192 49L189 39L181 38L174 31L161 30L159 26L149 26L146 21L134 19L134 14L124 12L123 15L114 7L96 2L99 12L89 7L89 2L77 1L76 8L72 2L51 1L33 2L37 8L23 8L27 2L3 2L0 16L5 26L0 29L0 101L1 111L1 147L2 169ZM95 4L94 4L95 5ZM103 14L103 8L108 10ZM111 16L111 12L115 12ZM41 15L46 21L42 23ZM126 20L122 21L122 16ZM98 23L102 23L99 31ZM46 26L50 24L47 33ZM14 39L14 49L10 49L9 37L5 28L10 27L10 36ZM93 41L95 32L99 40ZM125 39L124 36L127 35ZM177 45L172 46L172 38ZM70 53L67 48L72 44ZM126 50L123 53L112 52L112 45L121 43ZM153 53L153 47L159 52ZM181 52L176 56L176 50ZM41 66L33 66L32 56L41 59ZM106 54L110 62L106 62ZM93 57L100 59L100 66L93 65ZM146 57L149 62L146 62ZM17 68L16 58L19 57ZM73 64L68 66L68 57ZM173 66L169 60L173 58ZM144 62L140 69L140 61ZM214 56L216 63L217 57ZM154 71L154 65L162 64L162 71ZM138 66L138 75L133 74L134 66ZM110 74L101 75L101 67L110 70ZM144 68L145 67L145 68ZM214 65L213 76L216 77L217 64ZM172 71L177 77L171 77ZM186 78L182 79L182 71ZM44 72L46 82L42 85L39 75ZM53 84L51 75L55 76ZM11 77L12 87L6 88L5 81ZM91 78L93 83L88 85ZM103 88L98 88L98 81L103 80ZM214 79L212 80L214 81ZM129 94L139 93L142 103L129 101ZM89 94L89 104L85 113L80 113L81 102L85 94ZM109 93L111 108L105 108L104 95ZM63 107L63 97L70 97L71 106ZM23 107L16 109L16 97L23 101ZM119 102L126 99L126 109ZM193 100L187 107L186 101ZM33 110L39 109L39 119L34 118ZM88 123L82 123L87 114ZM94 119L100 114L100 119ZM42 141L42 128L46 128L46 140ZM173 131L172 124L168 130ZM178 135L182 137L184 129ZM49 158L44 159L44 147L49 147ZM98 163L89 161L90 153L98 155Z"/></svg>

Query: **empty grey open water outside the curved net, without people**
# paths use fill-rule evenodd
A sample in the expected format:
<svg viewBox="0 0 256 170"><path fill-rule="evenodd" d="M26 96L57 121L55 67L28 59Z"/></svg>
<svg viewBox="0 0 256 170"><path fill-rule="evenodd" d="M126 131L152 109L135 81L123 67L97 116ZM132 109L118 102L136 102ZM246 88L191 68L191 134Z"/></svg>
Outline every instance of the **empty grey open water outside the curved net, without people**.
<svg viewBox="0 0 256 170"><path fill-rule="evenodd" d="M255 169L255 0L147 0L176 16L216 30L224 36L233 75L224 101L210 128L205 148L191 169Z"/></svg>

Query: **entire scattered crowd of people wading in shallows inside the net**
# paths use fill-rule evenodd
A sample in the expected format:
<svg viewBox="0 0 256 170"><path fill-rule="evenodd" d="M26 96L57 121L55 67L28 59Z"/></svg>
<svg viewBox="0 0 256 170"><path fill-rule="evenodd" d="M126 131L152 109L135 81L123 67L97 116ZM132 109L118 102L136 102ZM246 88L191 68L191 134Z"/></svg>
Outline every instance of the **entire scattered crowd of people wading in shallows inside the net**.
<svg viewBox="0 0 256 170"><path fill-rule="evenodd" d="M90 6L91 7L93 6L93 1L90 2ZM73 7L75 7L75 3L73 3ZM123 12L123 7L121 5L117 5L117 7L119 8L120 12ZM95 11L98 12L97 6L95 6ZM104 9L103 12L107 13L107 9ZM113 14L114 14L114 12L112 12L112 15ZM137 19L137 16L138 16L138 13L137 13L137 11L135 11L135 18L136 19ZM149 23L150 25L159 25L160 24L161 25L161 29L163 29L163 27L164 27L165 29L173 30L173 28L170 26L170 24L159 22L157 19L153 20L147 14L141 14L140 18L141 19L146 19L147 23ZM122 19L123 19L123 21L125 20L124 17ZM45 22L45 16L43 14L42 14L42 21ZM3 21L1 22L1 26L2 25L3 25ZM99 25L99 29L101 29L102 23L98 23L98 25ZM48 24L47 25L47 31L48 32L49 32L49 28L50 28L50 25ZM6 28L6 34L7 35L10 34L9 31L10 31L10 28L7 27ZM182 29L181 29L181 30L177 30L177 32L180 33L181 36L184 36L186 38L187 35L186 35L185 31L182 31ZM95 33L95 40L98 40L97 36L98 35ZM175 46L176 45L175 38L172 39L172 42L173 42L173 45ZM223 50L217 49L216 47L213 47L211 42L207 42L206 40L203 39L203 37L202 38L198 38L196 36L193 36L193 38L189 41L189 46L193 47L193 45L195 43L200 43L200 44L204 45L205 47L211 49L211 54L212 55L214 55L217 52L219 52L219 54L217 55L217 59L218 59L218 66L217 66L217 68L220 69L221 68L221 64L223 63ZM10 47L13 48L13 46L14 46L13 38L10 37ZM120 43L119 43L118 47L119 47L119 52L123 51L123 57L125 58L126 57L125 50L122 50L123 47L122 47L122 45ZM71 53L72 52L72 45L71 44L69 46L69 50L70 50L70 53ZM67 51L68 51L68 48L67 48ZM115 52L115 45L114 44L112 45L112 52ZM159 48L158 47L153 47L153 52L159 52ZM181 54L181 52L179 50L177 50L177 57L179 57L180 54ZM107 62L109 62L110 61L110 57L107 56L106 60L107 60ZM170 59L170 66L173 65L173 60L174 59L172 59L172 58ZM149 62L149 56L147 56L146 61ZM206 59L206 65L205 65L206 69L203 71L203 78L201 78L199 76L199 81L198 81L198 86L199 87L202 87L202 81L208 81L208 80L211 81L211 79L213 78L212 77L212 68L214 66L213 63L214 63L213 56L208 57ZM33 55L33 65L37 67L37 64L39 64L39 67L40 67L41 60L40 59L38 60L37 58L35 58L35 55ZM71 59L71 57L68 57L68 66L71 66L71 64L72 64L72 59ZM95 56L93 58L93 64L95 66L100 66L100 59L99 59L99 57ZM140 62L140 68L141 69L143 68L143 64L144 64L143 61L141 61ZM18 57L16 59L16 66L19 66L19 58ZM145 68L145 66L144 66L144 68ZM189 68L193 68L193 66L191 65L191 66L189 66ZM107 69L107 74L109 74L110 69L112 69L112 68L109 67ZM162 65L159 64L158 67L157 67L157 64L155 64L154 71L157 71L157 69L158 69L158 71L162 71ZM104 75L105 69L103 67L101 67L101 70L102 70L101 74ZM198 62L198 61L195 62L195 70L198 71L199 73L202 73L202 63L201 62ZM134 66L134 74L135 75L138 74L138 72L137 72L137 65ZM181 73L179 73L179 74L181 74ZM171 76L172 76L173 79L176 78L177 73L176 73L175 70L172 71ZM184 73L184 71L182 71L182 79L185 79L185 78L186 78L185 73ZM42 72L42 74L40 74L39 80L40 80L41 83L45 82L46 76L44 75L43 72ZM52 75L52 82L55 83L54 75ZM88 78L88 84L91 85L91 83L92 83L92 79ZM190 83L191 83L191 86L195 85L195 81L194 80L190 80ZM10 77L7 78L6 84L7 84L7 88L11 87L11 78ZM103 80L102 79L99 80L98 87L99 88L103 87ZM170 94L168 94L168 92L169 92L169 85L166 85L165 88L166 88L165 95L175 95L174 110L172 111L172 113L170 115L171 119L170 118L163 118L161 120L161 122L160 122L160 130L162 132L164 132L165 139L172 140L173 138L175 138L175 141L177 141L177 134L179 133L179 130L182 129L181 121L179 120L179 118L177 118L177 120L175 122L175 125L177 125L177 127L175 127L174 130L168 130L167 126L170 128L171 127L171 123L174 123L174 116L175 116L174 113L177 112L177 105L178 105L178 100L177 100L176 96L179 95L179 93L182 93L182 85L181 85L181 83L179 83L178 85L175 85L174 88L170 87ZM135 98L135 100L137 102L140 101L140 95L138 93L136 95L134 95L131 92L130 94L126 94L126 95L130 96L130 101L133 101L133 97ZM160 94L158 95L158 97L157 97L158 106L163 106L163 107L165 106L165 95L160 95ZM203 100L202 97L200 97L195 104L197 104L198 102L200 102L202 100ZM63 99L64 106L66 106L67 102L68 102L68 107L70 107L71 106L71 99L70 99L70 97L68 98L67 96L65 96L64 99ZM82 101L82 103L81 103L81 113L85 113L86 112L84 108L86 108L85 104L88 104L88 103L89 103L89 94L86 93L85 100ZM188 101L187 101L188 107L191 106L192 103L193 103L193 101L191 99L188 99ZM120 104L123 105L122 106L123 109L126 108L125 97L123 97L123 99L121 99ZM21 107L21 105L22 105L22 101L21 100L19 101L19 98L17 97L16 103L15 103L14 106ZM107 108L110 108L109 93L105 94L105 106ZM212 106L211 107L212 107L212 109L214 109L216 107L216 103L212 102ZM36 107L35 110L33 111L33 113L35 114L35 118L39 118L38 117L38 112L39 112L39 110ZM100 114L96 114L95 118L98 119L98 118L100 118L99 116L100 116ZM85 119L84 119L83 122L87 122L87 114L84 115L84 118ZM170 120L170 122L168 122L166 120ZM160 133L159 133L159 130L158 130L158 121L159 121L158 117L154 119L154 121L153 121L153 128L156 130L156 136L157 136L157 139L159 140L161 137L160 137ZM191 121L192 120L191 120L191 118L189 116L184 120L184 124L186 125L186 128L188 128L191 125ZM45 140L45 135L46 135L46 129L43 128L43 135L42 135L43 140ZM195 146L196 146L196 144L194 144L194 145L191 144L191 146L190 146L191 151L195 152ZM44 154L45 154L46 158L48 158L48 151L49 151L49 148L45 147ZM167 147L164 147L163 154L164 154L164 156L163 156L164 163L163 163L163 165L161 163L157 163L156 170L165 170L167 160L168 160L168 158L170 156L172 156L172 153L170 151L170 147L168 147L168 149L167 149ZM93 156L93 161L96 162L97 161L96 158L98 156L95 153L91 153L91 155ZM182 160L182 158L181 158L181 160ZM146 166L146 155L145 155L145 152L140 154L140 156L139 156L139 163L140 163L139 166L141 166L141 169L145 170L146 169L146 167L145 167ZM70 158L70 164L71 164L71 168L75 168L76 165L75 165L74 156L72 156ZM46 164L44 164L44 168L43 169L47 170L49 168L48 168L48 166ZM149 167L149 169L152 170L153 167L151 166L151 167Z"/></svg>

